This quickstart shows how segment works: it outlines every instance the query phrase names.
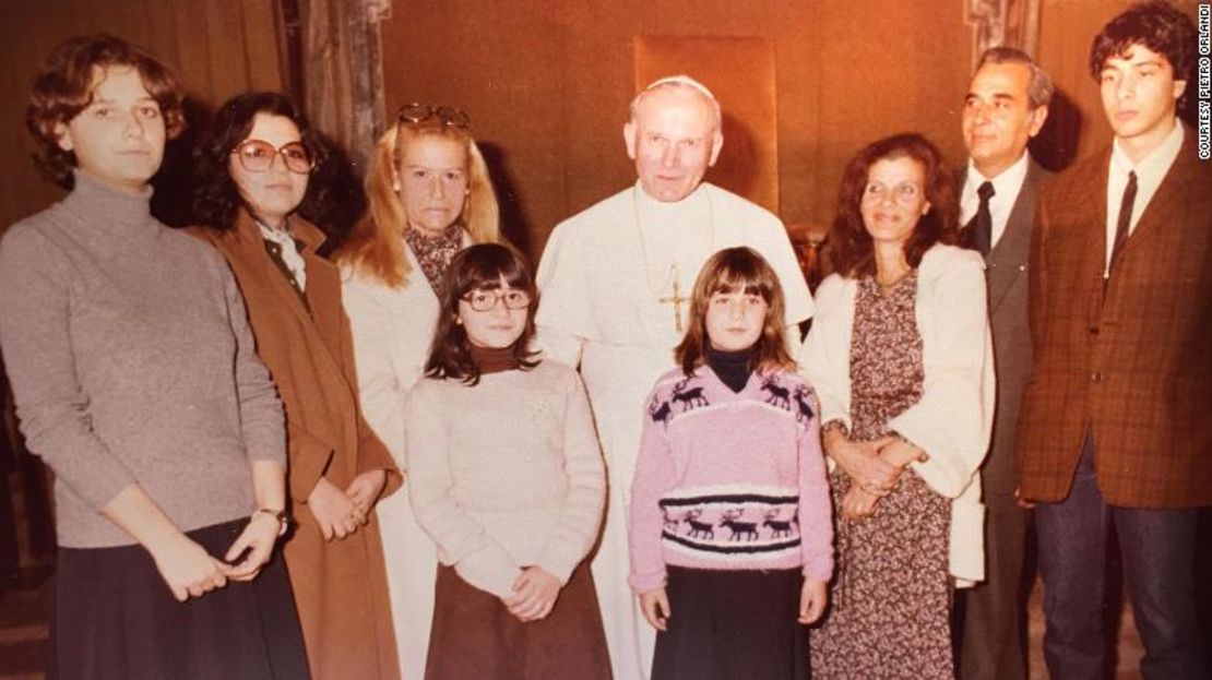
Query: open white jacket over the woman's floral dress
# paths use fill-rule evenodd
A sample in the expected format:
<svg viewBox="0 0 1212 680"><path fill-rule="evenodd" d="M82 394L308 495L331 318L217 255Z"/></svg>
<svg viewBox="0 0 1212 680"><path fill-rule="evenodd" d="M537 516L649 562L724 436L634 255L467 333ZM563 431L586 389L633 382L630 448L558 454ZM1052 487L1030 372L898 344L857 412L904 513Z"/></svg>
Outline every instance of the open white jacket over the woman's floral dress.
<svg viewBox="0 0 1212 680"><path fill-rule="evenodd" d="M839 274L816 292L817 314L800 350L800 372L821 398L821 421L851 427L850 344L858 282ZM981 462L993 429L995 377L984 261L936 245L917 268L917 330L925 379L917 404L888 428L930 456L911 463L936 492L951 498L950 572L960 587L984 579Z"/></svg>

